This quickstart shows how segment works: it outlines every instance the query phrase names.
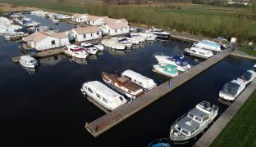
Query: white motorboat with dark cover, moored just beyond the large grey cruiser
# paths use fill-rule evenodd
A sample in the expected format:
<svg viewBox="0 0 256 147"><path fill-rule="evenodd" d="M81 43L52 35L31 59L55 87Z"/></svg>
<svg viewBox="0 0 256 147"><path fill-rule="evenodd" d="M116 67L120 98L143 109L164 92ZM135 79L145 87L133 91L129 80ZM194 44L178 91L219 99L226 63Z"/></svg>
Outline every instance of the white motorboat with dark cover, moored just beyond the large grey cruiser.
<svg viewBox="0 0 256 147"><path fill-rule="evenodd" d="M246 80L241 78L236 78L231 82L226 82L219 92L219 97L223 100L233 101L237 96L244 91L246 86Z"/></svg>

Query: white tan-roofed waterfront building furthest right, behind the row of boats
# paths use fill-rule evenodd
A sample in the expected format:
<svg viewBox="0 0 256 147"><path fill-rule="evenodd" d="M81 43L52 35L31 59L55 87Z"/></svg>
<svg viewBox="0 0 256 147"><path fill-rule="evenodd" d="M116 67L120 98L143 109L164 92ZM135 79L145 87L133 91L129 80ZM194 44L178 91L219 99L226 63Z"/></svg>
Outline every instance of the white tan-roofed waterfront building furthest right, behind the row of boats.
<svg viewBox="0 0 256 147"><path fill-rule="evenodd" d="M126 19L108 19L105 20L105 25L100 27L103 30L103 34L110 36L119 35L124 33L130 33L130 26Z"/></svg>

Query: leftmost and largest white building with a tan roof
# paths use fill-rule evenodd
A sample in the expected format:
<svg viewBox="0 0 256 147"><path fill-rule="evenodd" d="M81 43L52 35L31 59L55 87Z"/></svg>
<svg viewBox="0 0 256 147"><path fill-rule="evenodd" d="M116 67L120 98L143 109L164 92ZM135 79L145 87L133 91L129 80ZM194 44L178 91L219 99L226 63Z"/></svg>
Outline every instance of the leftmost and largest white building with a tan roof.
<svg viewBox="0 0 256 147"><path fill-rule="evenodd" d="M35 32L29 36L22 38L26 42L27 47L35 48L36 50L43 51L56 47L64 47L69 45L69 39L66 33L42 33Z"/></svg>

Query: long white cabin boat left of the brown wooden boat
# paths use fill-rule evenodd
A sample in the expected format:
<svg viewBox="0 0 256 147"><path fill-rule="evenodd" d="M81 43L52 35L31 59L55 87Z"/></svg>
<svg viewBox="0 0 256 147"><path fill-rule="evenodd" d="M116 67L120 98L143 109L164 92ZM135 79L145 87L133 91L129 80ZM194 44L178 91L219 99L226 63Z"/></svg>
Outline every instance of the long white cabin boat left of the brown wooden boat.
<svg viewBox="0 0 256 147"><path fill-rule="evenodd" d="M84 95L90 96L105 109L113 110L127 102L124 96L113 91L102 82L92 81L85 82L81 88Z"/></svg>

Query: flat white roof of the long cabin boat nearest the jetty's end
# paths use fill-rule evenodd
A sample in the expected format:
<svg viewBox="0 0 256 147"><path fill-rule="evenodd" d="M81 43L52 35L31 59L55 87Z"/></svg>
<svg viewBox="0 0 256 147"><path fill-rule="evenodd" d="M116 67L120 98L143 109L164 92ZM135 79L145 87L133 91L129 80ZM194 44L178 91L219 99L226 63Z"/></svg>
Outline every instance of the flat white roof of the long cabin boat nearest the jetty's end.
<svg viewBox="0 0 256 147"><path fill-rule="evenodd" d="M109 87L107 87L105 84L103 84L102 82L99 81L92 81L92 82L87 82L91 87L94 87L96 91L100 91L101 93L103 93L104 95L108 96L108 97L117 97L119 99L119 96L121 96L119 93L117 93L116 91L113 91L112 89L110 89ZM107 98L107 100L109 100ZM111 102L113 102L112 100L109 100ZM115 101L115 100L114 100ZM116 102L116 101L115 101Z"/></svg>

